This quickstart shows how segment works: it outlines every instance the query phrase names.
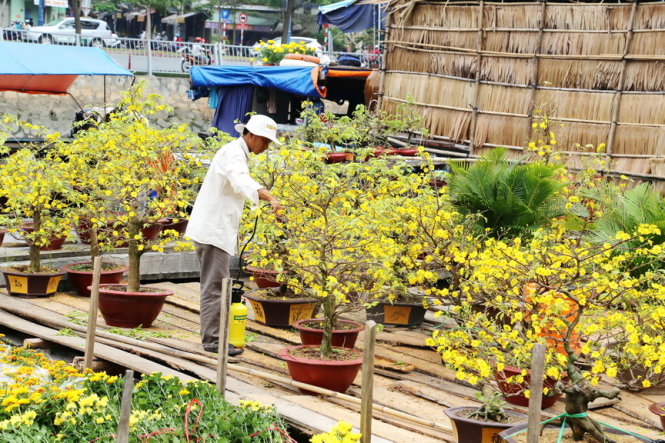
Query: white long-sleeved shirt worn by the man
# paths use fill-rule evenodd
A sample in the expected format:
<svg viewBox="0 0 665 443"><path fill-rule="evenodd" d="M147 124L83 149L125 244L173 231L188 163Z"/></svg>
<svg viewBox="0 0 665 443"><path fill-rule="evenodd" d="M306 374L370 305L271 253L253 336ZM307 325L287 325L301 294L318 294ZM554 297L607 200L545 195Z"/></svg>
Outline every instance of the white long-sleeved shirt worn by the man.
<svg viewBox="0 0 665 443"><path fill-rule="evenodd" d="M240 137L215 154L196 197L185 235L235 255L245 200L259 203L263 188L249 175L249 149Z"/></svg>

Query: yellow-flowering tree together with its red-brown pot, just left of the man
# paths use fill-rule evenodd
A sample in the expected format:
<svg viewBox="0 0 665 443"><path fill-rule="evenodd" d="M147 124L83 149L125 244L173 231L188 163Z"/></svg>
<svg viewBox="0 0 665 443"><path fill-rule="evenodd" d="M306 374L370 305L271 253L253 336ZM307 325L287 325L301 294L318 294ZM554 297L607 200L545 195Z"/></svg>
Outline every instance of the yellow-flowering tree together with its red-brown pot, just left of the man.
<svg viewBox="0 0 665 443"><path fill-rule="evenodd" d="M127 284L100 286L100 311L112 326L149 327L170 291L147 288L140 282L140 259L148 251L163 252L166 243L177 239L174 230L159 238L142 235L142 230L167 215L184 217L192 201L192 168L198 160L192 150L198 143L185 126L153 127L148 118L167 107L156 97L143 98L141 84L124 95L108 122L89 132L96 149L86 142L75 143L68 154L98 181L83 208L95 209L98 226L114 220L106 241L126 243Z"/></svg>

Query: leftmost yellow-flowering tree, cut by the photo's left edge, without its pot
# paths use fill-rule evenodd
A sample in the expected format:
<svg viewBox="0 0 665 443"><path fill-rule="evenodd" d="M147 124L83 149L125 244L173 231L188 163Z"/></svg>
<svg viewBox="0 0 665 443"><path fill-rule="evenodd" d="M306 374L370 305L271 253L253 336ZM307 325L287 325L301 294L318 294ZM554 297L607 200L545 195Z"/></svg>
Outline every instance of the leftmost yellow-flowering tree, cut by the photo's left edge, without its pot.
<svg viewBox="0 0 665 443"><path fill-rule="evenodd" d="M18 127L44 142L28 143L11 153L0 145L0 154L9 155L0 164L0 197L6 199L2 211L8 216L4 221L10 232L20 231L29 245L30 265L25 271L54 272L43 269L40 248L48 246L52 237L66 236L71 229L68 213L72 189L63 173L60 134L5 116L0 123L0 138ZM23 229L25 218L32 219L31 231Z"/></svg>

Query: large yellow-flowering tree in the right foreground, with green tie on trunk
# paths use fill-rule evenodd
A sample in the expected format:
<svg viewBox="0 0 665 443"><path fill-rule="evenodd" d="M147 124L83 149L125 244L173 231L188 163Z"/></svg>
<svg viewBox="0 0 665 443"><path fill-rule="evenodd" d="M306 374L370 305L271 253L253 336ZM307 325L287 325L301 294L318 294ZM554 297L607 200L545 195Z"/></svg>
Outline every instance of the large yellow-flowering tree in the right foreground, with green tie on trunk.
<svg viewBox="0 0 665 443"><path fill-rule="evenodd" d="M586 414L594 399L619 394L601 388L601 380L636 362L655 373L665 368L665 336L657 326L665 320L663 275L625 266L635 256L647 269L661 260L661 245L653 242L659 234L654 225L639 225L594 244L584 230L570 231L557 220L528 240L488 239L469 257L467 278L453 294L456 305L442 314L457 327L435 331L428 343L461 380L477 384L515 366L521 372L505 381L518 385L528 376L533 345L547 345L546 377L556 384L545 394L565 394L574 439L588 433L613 441ZM624 249L626 244L634 247ZM492 309L473 309L478 301ZM582 360L590 367L580 366ZM648 374L638 377L650 384Z"/></svg>

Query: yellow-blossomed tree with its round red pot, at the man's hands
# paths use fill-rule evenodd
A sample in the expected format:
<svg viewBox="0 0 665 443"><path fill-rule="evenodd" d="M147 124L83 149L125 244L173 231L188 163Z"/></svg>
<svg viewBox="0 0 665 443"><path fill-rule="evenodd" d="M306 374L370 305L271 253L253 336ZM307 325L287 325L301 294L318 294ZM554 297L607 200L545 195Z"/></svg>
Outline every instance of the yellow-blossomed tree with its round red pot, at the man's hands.
<svg viewBox="0 0 665 443"><path fill-rule="evenodd" d="M291 149L289 149L289 147ZM298 381L344 391L361 365L357 351L333 346L340 316L362 309L373 294L390 292L400 248L381 224L388 209L382 198L407 192L401 169L376 159L325 165L324 152L302 150L297 141L283 148L283 173L272 189L288 210L274 220L282 230L286 254L282 269L296 294L321 302L320 345L280 351ZM317 372L314 368L322 368Z"/></svg>

